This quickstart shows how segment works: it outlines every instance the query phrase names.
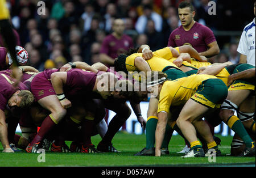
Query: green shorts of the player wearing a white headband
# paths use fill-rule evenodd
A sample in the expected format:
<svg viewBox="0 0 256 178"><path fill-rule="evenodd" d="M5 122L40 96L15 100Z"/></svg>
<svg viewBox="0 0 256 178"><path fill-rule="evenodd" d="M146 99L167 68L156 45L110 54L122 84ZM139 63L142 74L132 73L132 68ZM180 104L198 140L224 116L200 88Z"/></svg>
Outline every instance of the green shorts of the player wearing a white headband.
<svg viewBox="0 0 256 178"><path fill-rule="evenodd" d="M228 96L228 88L220 79L205 80L191 97L197 103L210 108L219 108Z"/></svg>

